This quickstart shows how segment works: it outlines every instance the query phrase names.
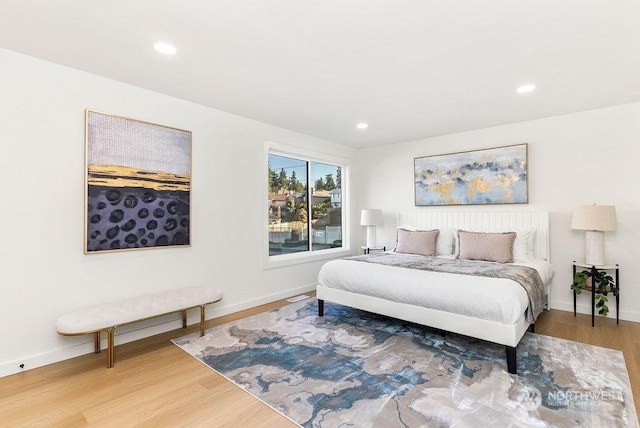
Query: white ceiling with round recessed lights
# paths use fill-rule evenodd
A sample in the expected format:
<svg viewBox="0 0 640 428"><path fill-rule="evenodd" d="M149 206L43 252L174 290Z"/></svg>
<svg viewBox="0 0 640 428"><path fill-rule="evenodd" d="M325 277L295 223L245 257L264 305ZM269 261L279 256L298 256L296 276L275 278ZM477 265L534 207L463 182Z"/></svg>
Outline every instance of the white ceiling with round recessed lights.
<svg viewBox="0 0 640 428"><path fill-rule="evenodd" d="M356 148L640 101L639 0L0 0L0 47Z"/></svg>

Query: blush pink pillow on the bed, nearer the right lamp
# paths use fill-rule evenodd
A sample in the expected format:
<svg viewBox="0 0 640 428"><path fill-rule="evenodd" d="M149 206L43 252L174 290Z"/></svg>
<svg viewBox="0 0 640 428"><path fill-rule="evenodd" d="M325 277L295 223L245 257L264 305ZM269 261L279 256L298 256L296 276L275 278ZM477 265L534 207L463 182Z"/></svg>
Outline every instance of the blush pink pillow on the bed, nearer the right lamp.
<svg viewBox="0 0 640 428"><path fill-rule="evenodd" d="M484 233L458 231L459 259L513 263L515 232Z"/></svg>

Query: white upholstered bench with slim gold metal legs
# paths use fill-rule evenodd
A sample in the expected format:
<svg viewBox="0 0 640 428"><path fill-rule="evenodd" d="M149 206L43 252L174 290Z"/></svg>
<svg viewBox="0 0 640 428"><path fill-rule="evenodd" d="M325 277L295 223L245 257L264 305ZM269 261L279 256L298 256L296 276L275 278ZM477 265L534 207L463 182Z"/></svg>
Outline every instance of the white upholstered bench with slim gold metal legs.
<svg viewBox="0 0 640 428"><path fill-rule="evenodd" d="M107 367L114 365L114 339L117 327L149 318L182 312L182 327L187 327L187 309L200 308L200 336L204 336L205 306L222 299L215 287L194 286L146 296L95 305L69 312L58 318L58 333L65 336L93 334L95 352L100 352L100 333L107 335Z"/></svg>

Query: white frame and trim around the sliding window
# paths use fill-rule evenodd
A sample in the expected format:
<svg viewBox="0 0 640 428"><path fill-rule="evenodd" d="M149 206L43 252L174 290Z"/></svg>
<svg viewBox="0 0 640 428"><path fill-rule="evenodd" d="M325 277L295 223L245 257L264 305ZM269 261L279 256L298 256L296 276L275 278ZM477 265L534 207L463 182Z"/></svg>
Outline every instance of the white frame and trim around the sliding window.
<svg viewBox="0 0 640 428"><path fill-rule="evenodd" d="M265 269L278 268L283 266L291 266L300 263L309 263L318 260L334 259L337 257L344 257L351 255L350 248L350 236L351 228L349 223L350 212L350 200L349 200L349 161L339 156L333 156L326 153L314 152L311 150L302 149L299 147L288 146L285 144L275 143L272 141L266 141L264 144L264 173L263 177L263 195L265 197L269 194L269 183L267 177L269 176L269 154L293 157L296 159L304 160L306 162L318 162L329 165L336 165L341 168L341 191L342 191L342 247L341 248L328 248L325 250L312 251L311 248L307 251L300 251L291 254L278 254L277 256L269 255L269 216L266 212L263 215L263 231L264 233L264 267ZM309 180L311 178L309 177ZM307 183L307 188L311 189L313 183ZM309 201L310 203L310 201ZM264 204L263 204L264 206ZM309 218L311 218L311 206L309 206ZM311 229L309 228L309 233ZM311 238L311 237L309 237ZM311 239L309 239L311 243Z"/></svg>

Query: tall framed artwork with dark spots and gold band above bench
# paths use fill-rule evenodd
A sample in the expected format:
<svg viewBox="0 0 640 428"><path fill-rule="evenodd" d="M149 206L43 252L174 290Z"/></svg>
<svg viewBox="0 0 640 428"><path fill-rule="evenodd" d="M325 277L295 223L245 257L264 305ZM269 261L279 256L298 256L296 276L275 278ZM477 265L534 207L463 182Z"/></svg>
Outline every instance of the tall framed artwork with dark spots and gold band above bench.
<svg viewBox="0 0 640 428"><path fill-rule="evenodd" d="M85 110L85 254L190 246L191 137Z"/></svg>

